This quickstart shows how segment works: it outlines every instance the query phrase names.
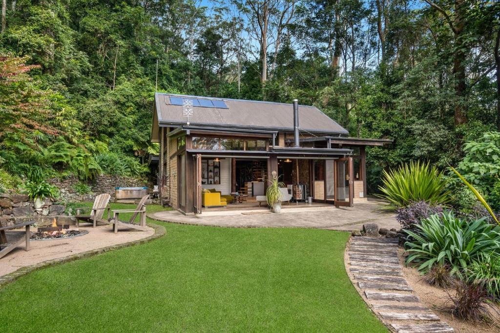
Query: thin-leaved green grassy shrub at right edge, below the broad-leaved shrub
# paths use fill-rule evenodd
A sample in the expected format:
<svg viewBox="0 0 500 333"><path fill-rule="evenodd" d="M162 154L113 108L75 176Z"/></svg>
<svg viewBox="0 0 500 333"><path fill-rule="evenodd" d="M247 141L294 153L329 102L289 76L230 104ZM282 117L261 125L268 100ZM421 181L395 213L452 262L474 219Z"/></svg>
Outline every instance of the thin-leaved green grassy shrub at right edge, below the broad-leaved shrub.
<svg viewBox="0 0 500 333"><path fill-rule="evenodd" d="M500 300L500 255L496 253L480 253L466 271L469 283L481 282L488 294Z"/></svg>

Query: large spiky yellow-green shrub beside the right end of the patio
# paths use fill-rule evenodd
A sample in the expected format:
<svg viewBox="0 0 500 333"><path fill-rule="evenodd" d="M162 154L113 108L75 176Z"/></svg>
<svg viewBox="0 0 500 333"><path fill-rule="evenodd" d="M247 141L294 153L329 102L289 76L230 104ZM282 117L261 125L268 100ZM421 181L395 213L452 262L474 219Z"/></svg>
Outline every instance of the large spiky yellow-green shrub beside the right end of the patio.
<svg viewBox="0 0 500 333"><path fill-rule="evenodd" d="M383 172L382 194L378 197L389 203L385 209L406 207L411 202L425 201L432 205L445 204L450 192L446 191L443 173L429 163L410 162L401 167Z"/></svg>

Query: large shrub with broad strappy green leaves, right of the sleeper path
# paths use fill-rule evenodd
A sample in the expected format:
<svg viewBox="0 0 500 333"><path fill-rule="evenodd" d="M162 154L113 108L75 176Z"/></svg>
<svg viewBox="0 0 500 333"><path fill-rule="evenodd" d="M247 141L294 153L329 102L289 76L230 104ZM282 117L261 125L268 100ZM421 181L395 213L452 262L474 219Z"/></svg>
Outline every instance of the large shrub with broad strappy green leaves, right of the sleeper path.
<svg viewBox="0 0 500 333"><path fill-rule="evenodd" d="M468 222L452 211L423 219L415 231L405 230L413 239L405 243L406 264L419 264L427 273L434 264L450 266L450 275L461 275L480 253L500 250L500 227L485 218Z"/></svg>

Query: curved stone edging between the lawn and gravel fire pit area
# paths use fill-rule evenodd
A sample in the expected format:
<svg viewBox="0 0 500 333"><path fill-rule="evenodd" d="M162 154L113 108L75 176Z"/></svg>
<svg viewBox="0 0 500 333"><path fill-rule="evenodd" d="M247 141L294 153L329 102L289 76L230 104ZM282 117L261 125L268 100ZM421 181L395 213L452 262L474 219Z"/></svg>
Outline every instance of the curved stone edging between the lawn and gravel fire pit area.
<svg viewBox="0 0 500 333"><path fill-rule="evenodd" d="M117 249L127 248L127 247L134 246L134 245L144 244L144 243L147 243L147 242L150 242L152 240L155 240L157 238L162 237L166 232L164 227L157 225L157 224L154 224L154 223L148 223L147 226L154 229L154 234L152 234L151 236L145 237L145 238L141 238L141 239L136 240L136 241L130 241L130 242L126 242L126 243L110 245L110 246L106 246L103 248L88 250L88 251L80 252L80 253L77 253L74 255L70 255L70 256L66 256L66 257L62 257L62 258L57 258L57 259L46 260L46 261L42 261L41 263L38 263L38 264L21 267L12 273L8 273L8 274L5 274L3 276L0 276L0 289L3 288L4 286L6 286L7 284L19 279L20 277L22 277L28 273L31 273L33 271L36 271L38 269L42 269L42 268L46 268L46 267L50 267L50 266L55 266L55 265L67 263L67 262L82 259L82 258L88 258L88 257L94 256L97 254L101 254L101 253L105 253L105 252L108 252L111 250L117 250Z"/></svg>

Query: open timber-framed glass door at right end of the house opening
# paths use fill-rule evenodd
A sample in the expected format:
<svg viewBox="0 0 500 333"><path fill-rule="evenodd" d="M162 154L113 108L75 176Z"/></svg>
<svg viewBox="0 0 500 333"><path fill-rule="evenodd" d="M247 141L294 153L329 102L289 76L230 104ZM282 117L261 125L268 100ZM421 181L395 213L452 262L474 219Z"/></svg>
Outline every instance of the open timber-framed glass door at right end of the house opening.
<svg viewBox="0 0 500 333"><path fill-rule="evenodd" d="M339 158L334 164L335 174L335 206L353 206L353 167L352 157Z"/></svg>

